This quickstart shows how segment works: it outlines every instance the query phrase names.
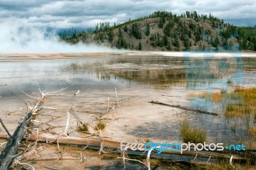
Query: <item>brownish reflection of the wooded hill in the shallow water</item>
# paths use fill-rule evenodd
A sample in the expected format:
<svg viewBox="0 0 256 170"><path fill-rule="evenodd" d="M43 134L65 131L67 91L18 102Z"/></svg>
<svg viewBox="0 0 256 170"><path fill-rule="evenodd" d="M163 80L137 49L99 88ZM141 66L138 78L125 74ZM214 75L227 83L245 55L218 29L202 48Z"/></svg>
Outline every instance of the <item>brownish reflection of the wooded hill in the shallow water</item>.
<svg viewBox="0 0 256 170"><path fill-rule="evenodd" d="M217 61L217 60L216 60ZM211 58L194 59L170 57L118 57L94 63L72 63L64 70L72 73L96 73L100 81L110 81L118 77L152 86L172 86L180 83L187 88L211 86L225 77L232 65L225 58L212 62ZM211 64L215 67L211 67ZM243 70L241 61L237 62L236 72ZM215 69L215 71L214 71ZM221 71L221 72L218 72ZM231 70L232 74L236 73ZM214 75L218 72L218 76ZM221 75L223 73L223 75ZM215 73L216 74L216 73ZM227 77L227 76L226 76Z"/></svg>

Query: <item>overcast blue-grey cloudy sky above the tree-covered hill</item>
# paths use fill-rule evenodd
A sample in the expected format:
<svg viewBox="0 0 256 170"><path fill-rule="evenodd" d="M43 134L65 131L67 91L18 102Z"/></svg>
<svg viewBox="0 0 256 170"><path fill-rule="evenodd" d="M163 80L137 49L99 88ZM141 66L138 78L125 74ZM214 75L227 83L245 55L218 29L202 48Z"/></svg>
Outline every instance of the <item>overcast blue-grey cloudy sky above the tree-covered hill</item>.
<svg viewBox="0 0 256 170"><path fill-rule="evenodd" d="M26 45L33 37L42 38L47 27L86 29L97 22L122 23L157 10L177 14L196 10L237 26L255 26L255 9L255 0L0 0L0 43L10 40Z"/></svg>

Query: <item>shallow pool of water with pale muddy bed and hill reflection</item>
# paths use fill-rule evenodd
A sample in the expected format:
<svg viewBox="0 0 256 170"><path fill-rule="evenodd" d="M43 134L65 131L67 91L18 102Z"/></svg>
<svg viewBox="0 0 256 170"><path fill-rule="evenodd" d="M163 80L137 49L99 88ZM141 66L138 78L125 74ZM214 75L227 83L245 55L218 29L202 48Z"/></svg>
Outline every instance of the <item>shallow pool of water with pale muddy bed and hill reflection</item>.
<svg viewBox="0 0 256 170"><path fill-rule="evenodd" d="M71 54L70 54L71 55ZM244 72L244 65L251 70ZM77 110L105 112L118 100L123 103L115 111L119 119L108 121L104 135L113 140L136 141L150 138L152 141L180 141L179 121L185 116L191 125L205 128L208 141L232 143L250 137L246 126L253 120L226 119L223 105L205 102L202 98L188 98L188 93L230 90L227 84L255 85L252 68L255 59L230 57L170 57L170 56L108 56L86 58L20 59L0 61L1 118L13 132L17 121L26 113L24 100L36 95L39 88L45 91L61 91L45 103L57 107L62 116L52 125L55 131L63 130L65 113L77 104ZM116 88L116 91L115 91ZM74 93L80 91L76 97ZM162 105L149 104L158 100L173 105L182 105L218 112L209 116ZM76 112L82 119L88 114ZM40 120L48 120L41 118ZM48 120L49 121L49 120ZM84 120L85 121L85 120ZM90 120L88 120L90 121ZM71 135L76 132L76 120L71 120ZM244 123L246 122L246 123ZM236 128L236 130L234 130Z"/></svg>

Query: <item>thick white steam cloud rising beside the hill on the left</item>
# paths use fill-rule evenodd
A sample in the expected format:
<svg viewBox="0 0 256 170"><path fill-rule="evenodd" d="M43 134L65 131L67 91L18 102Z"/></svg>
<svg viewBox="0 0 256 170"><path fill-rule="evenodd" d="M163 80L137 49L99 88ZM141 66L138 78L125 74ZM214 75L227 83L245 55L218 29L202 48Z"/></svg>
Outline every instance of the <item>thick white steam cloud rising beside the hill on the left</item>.
<svg viewBox="0 0 256 170"><path fill-rule="evenodd" d="M97 45L59 42L56 30L27 23L25 20L0 21L0 53L50 53L50 52L115 52L118 50Z"/></svg>

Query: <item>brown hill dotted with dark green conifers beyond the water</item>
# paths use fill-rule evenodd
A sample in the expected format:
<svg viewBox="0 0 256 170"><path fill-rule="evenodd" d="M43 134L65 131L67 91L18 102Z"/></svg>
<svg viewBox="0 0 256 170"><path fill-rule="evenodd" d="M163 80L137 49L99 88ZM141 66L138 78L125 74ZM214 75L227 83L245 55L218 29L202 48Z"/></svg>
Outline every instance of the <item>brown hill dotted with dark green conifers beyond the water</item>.
<svg viewBox="0 0 256 170"><path fill-rule="evenodd" d="M131 50L256 51L256 28L237 27L210 15L186 12L154 12L148 17L95 29L58 33L68 43L93 43Z"/></svg>

